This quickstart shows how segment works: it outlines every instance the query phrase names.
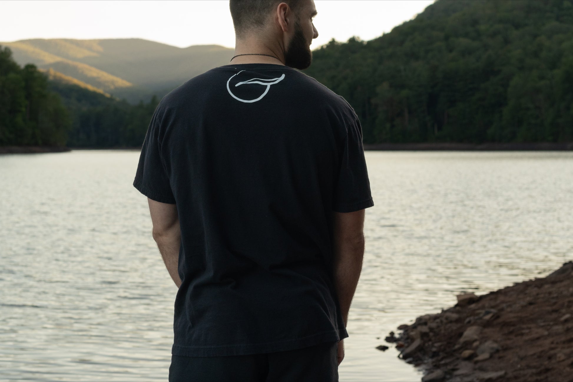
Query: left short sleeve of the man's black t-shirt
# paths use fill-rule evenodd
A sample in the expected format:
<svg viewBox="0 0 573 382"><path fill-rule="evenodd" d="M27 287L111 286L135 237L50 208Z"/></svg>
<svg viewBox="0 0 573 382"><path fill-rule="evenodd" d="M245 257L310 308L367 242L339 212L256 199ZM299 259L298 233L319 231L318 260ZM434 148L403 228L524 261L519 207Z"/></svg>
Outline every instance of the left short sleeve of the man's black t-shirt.
<svg viewBox="0 0 573 382"><path fill-rule="evenodd" d="M155 109L147 128L134 187L156 202L175 204L166 167L160 155L158 111L159 107Z"/></svg>

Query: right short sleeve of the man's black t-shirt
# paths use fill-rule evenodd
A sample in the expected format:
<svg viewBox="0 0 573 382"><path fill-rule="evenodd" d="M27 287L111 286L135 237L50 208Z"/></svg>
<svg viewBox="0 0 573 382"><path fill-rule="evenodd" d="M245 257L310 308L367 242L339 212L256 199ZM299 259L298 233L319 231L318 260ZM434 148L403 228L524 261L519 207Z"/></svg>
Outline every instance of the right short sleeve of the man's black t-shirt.
<svg viewBox="0 0 573 382"><path fill-rule="evenodd" d="M374 206L358 117L348 124L347 131L332 201L332 210L336 212L353 212Z"/></svg>

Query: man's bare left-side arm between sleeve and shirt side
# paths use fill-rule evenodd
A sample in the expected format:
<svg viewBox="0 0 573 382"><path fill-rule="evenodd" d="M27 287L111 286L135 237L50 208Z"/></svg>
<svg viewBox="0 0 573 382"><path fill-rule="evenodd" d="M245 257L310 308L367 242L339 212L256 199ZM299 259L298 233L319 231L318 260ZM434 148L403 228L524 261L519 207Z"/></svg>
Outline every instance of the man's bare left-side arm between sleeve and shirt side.
<svg viewBox="0 0 573 382"><path fill-rule="evenodd" d="M149 198L147 198L147 201L153 223L153 238L157 243L167 271L177 288L179 288L181 279L177 269L179 266L181 230L179 228L179 215L177 214L176 204L160 203Z"/></svg>

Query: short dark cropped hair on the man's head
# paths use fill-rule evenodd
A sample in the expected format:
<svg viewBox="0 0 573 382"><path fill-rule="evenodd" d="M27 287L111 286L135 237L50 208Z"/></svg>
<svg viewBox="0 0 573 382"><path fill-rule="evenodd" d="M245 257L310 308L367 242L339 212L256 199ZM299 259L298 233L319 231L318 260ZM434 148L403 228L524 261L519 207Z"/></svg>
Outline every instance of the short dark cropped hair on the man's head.
<svg viewBox="0 0 573 382"><path fill-rule="evenodd" d="M299 0L230 0L229 9L233 18L235 33L245 36L249 30L265 25L266 18L280 3L286 3L296 11Z"/></svg>

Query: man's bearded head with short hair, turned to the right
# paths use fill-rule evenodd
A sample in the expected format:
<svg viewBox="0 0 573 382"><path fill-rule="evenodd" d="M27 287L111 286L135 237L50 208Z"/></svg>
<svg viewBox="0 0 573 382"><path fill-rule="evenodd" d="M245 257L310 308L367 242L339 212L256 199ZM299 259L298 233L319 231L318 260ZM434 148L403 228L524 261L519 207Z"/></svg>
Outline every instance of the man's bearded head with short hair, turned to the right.
<svg viewBox="0 0 573 382"><path fill-rule="evenodd" d="M292 68L311 65L310 45L318 37L312 0L230 0L229 7L237 41L257 41L272 51L278 49L285 65Z"/></svg>

